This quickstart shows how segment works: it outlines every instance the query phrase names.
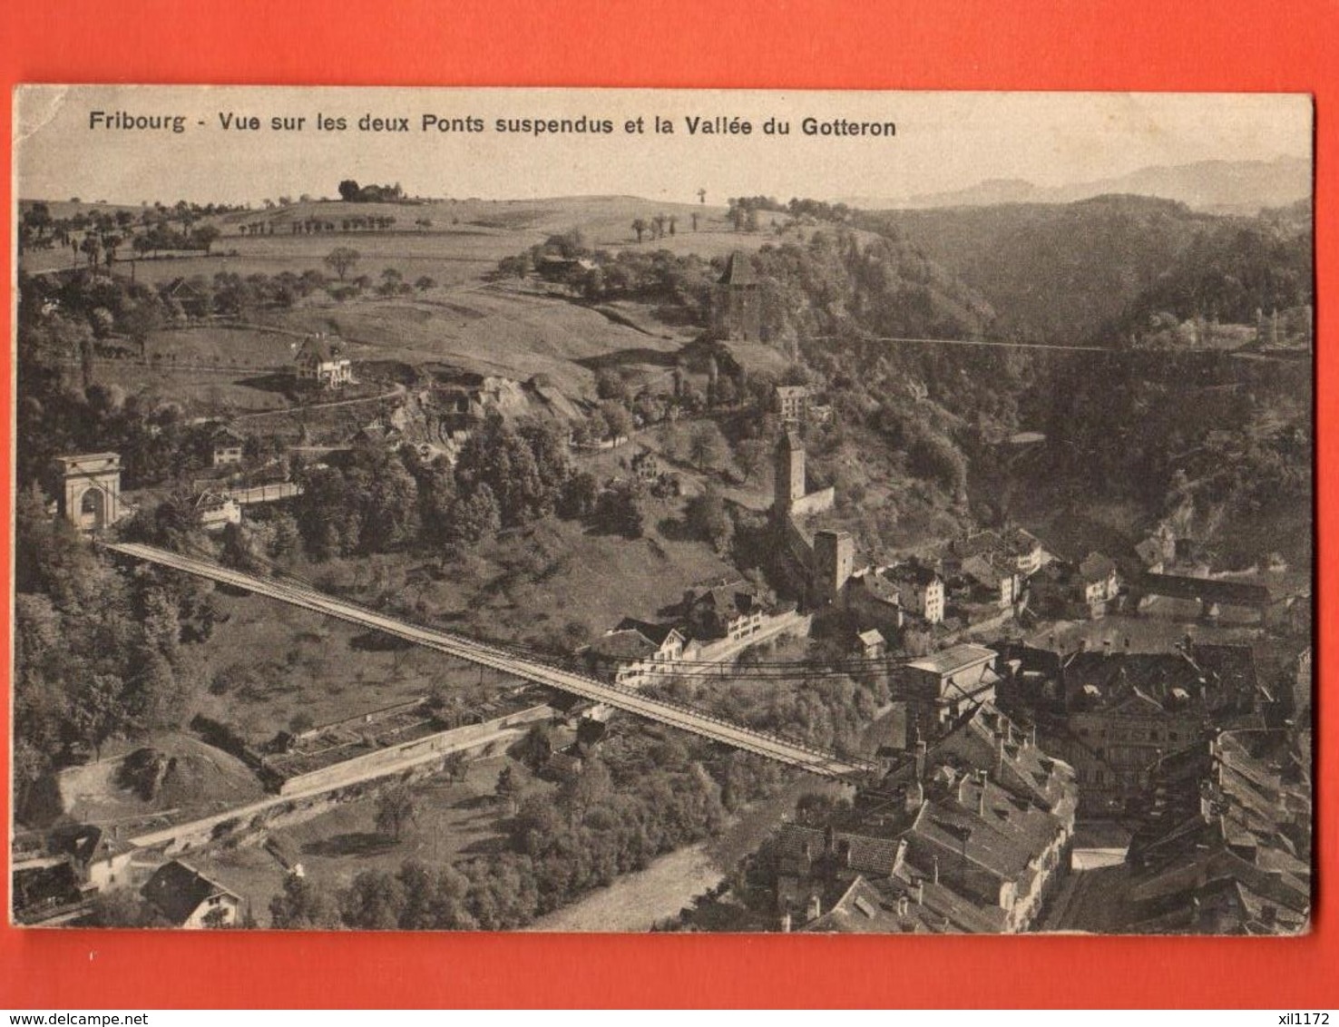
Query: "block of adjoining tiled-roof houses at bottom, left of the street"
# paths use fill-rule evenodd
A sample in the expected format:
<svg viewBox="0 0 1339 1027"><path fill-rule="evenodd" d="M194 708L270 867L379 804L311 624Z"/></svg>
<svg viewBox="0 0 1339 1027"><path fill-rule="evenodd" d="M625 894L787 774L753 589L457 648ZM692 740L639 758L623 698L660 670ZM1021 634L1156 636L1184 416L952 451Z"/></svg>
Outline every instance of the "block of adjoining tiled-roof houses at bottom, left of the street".
<svg viewBox="0 0 1339 1027"><path fill-rule="evenodd" d="M990 704L919 742L849 810L777 838L782 929L1011 933L1065 872L1073 770Z"/></svg>

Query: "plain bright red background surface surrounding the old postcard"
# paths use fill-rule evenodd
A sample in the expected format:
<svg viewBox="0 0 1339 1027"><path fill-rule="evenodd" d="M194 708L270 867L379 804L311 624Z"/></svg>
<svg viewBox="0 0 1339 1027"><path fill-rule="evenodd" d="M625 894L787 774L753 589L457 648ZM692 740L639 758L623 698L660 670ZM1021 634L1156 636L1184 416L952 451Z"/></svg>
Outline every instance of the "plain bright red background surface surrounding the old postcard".
<svg viewBox="0 0 1339 1027"><path fill-rule="evenodd" d="M0 54L11 87L217 82L1312 92L1318 280L1332 284L1339 266L1335 0L900 0L877 13L865 4L814 0L758 9L719 0L4 0L0 8ZM9 103L0 106L8 135ZM8 151L0 159L8 212ZM7 213L5 281L12 274L9 230ZM9 315L4 304L7 340ZM1336 358L1330 351L1339 340L1327 303L1318 324L1324 542L1339 529L1327 474L1335 453L1327 387ZM3 399L8 427L8 392ZM0 447L4 481L8 454L8 445ZM5 581L8 552L7 540L0 550ZM1328 596L1334 584L1335 566L1322 564L1319 595ZM1324 691L1334 678L1332 605L1322 604L1318 624ZM0 632L8 652L8 616ZM1320 715L1316 750L1332 754L1336 707L1323 702ZM8 738L7 727L0 736ZM0 1004L1334 1007L1339 836L1336 782L1323 781L1332 766L1332 758L1322 757L1320 888L1314 933L1299 940L134 935L0 927ZM5 823L7 802L8 787L0 791ZM8 874L4 890L8 905Z"/></svg>

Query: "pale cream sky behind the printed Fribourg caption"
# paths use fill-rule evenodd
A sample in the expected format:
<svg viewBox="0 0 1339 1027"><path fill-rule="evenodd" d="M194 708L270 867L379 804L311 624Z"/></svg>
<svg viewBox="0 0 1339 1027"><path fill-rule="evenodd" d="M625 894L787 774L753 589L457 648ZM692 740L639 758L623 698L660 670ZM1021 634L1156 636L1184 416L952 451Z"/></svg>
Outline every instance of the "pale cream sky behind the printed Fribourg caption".
<svg viewBox="0 0 1339 1027"><path fill-rule="evenodd" d="M179 133L90 127L94 111L181 116ZM261 119L224 129L224 115ZM345 119L320 130L317 115ZM363 115L408 131L360 131ZM424 115L485 131L423 131ZM498 133L498 118L613 122L611 134ZM665 118L674 134L652 130ZM272 118L303 118L273 130ZM644 131L627 131L640 116ZM688 118L747 119L743 134L688 133ZM789 135L769 135L769 118ZM805 135L818 122L893 122L896 135ZM399 90L24 87L15 194L24 200L228 202L333 197L340 179L400 182L408 195L521 200L633 194L911 197L1020 178L1059 186L1150 165L1311 157L1308 96L1279 94L781 92L692 90Z"/></svg>

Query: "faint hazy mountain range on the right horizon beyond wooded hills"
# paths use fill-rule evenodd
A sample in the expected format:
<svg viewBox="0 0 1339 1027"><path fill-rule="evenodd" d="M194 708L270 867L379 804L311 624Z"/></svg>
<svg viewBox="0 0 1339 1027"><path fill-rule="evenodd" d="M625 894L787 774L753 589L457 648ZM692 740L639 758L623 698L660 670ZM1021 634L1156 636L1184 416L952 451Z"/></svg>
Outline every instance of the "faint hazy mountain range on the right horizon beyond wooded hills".
<svg viewBox="0 0 1339 1027"><path fill-rule="evenodd" d="M901 200L844 197L841 202L865 210L924 210L998 204L1073 204L1107 194L1177 200L1194 210L1216 214L1255 214L1263 208L1285 206L1308 198L1311 161L1279 157L1273 161L1158 165L1141 167L1117 178L1063 186L1039 186L1022 178L990 178L967 189L944 193L921 193Z"/></svg>

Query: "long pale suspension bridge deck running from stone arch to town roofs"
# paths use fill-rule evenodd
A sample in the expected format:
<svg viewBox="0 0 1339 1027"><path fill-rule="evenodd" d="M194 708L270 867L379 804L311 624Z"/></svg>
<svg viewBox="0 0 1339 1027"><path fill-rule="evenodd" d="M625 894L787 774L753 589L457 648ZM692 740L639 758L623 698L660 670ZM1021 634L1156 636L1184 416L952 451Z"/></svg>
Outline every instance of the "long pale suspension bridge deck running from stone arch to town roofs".
<svg viewBox="0 0 1339 1027"><path fill-rule="evenodd" d="M388 617L356 603L327 596L324 592L308 585L283 578L256 577L241 570L232 570L209 560L181 556L149 545L126 542L107 544L104 548L186 574L248 589L249 592L277 599L281 603L301 607L316 613L375 628L387 635L438 649L439 652L482 667L502 671L550 688L572 692L585 699L608 703L629 714L645 716L649 720L670 727L678 727L703 738L723 742L727 746L742 748L747 753L757 753L761 757L798 767L810 774L826 778L854 778L872 769L872 765L862 761L842 759L833 753L825 753L789 739L766 735L692 707L652 699L629 688L620 688L584 674L574 674L561 667L546 664L534 656L522 656L498 645L475 641L463 635L424 628L396 617Z"/></svg>

